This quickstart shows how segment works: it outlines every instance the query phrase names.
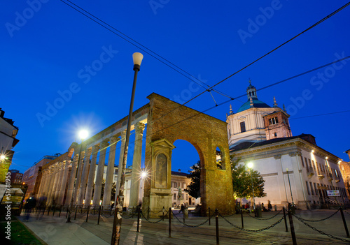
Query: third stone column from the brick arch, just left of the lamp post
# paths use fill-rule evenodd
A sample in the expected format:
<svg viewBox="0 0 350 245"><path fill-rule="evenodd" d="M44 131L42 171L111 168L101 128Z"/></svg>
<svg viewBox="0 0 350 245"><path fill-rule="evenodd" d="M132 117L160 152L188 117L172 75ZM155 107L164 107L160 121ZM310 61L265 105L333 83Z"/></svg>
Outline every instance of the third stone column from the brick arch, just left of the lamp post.
<svg viewBox="0 0 350 245"><path fill-rule="evenodd" d="M114 161L116 159L116 146L118 142L118 137L112 136L109 139L109 163L107 166L106 173L106 184L104 184L104 200L102 205L106 208L111 206L111 192L113 184L113 174L114 174Z"/></svg>

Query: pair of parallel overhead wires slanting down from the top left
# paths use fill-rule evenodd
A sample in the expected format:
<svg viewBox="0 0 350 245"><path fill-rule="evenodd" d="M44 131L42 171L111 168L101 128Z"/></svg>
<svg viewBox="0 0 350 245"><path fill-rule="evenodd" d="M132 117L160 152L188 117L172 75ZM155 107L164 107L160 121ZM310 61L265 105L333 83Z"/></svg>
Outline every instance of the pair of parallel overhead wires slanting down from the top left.
<svg viewBox="0 0 350 245"><path fill-rule="evenodd" d="M81 13L82 15L85 15L85 17L88 17L90 20L96 22L97 24L99 24L100 26L104 27L105 29L111 31L113 34L116 34L116 35L119 36L120 38L123 38L123 39L126 40L128 43L130 43L130 44L134 45L135 47L139 48L140 50L146 52L146 54L151 55L151 57L153 57L153 58L157 59L158 61L162 62L162 64L165 64L165 65L168 66L169 68L172 68L172 69L175 70L177 73L180 73L180 74L183 75L184 77L186 77L186 78L188 78L189 80L195 82L198 86L202 87L203 89L206 89L206 88L205 88L202 84L204 84L206 87L209 88L209 85L208 85L208 84L205 84L204 82L202 82L201 80L199 80L197 77L195 77L195 76L191 75L190 73L188 73L186 70L183 70L183 69L180 68L179 66L176 66L176 64L174 64L174 63L172 63L171 61L169 61L168 59L165 59L164 57L160 56L160 54L157 54L156 52L153 52L153 51L152 51L151 49L149 49L148 47L146 47L146 46L142 45L141 43L137 42L137 40L134 40L133 38L131 38L130 36L127 36L126 34L123 34L123 32L119 31L119 30L116 29L115 27L112 27L110 24L104 22L103 20L99 19L99 17L96 17L95 15L92 15L92 13L88 12L87 10L85 10L85 9L83 9L83 8L80 8L80 6L76 5L76 3L73 3L72 1L66 0L66 1L68 1L69 3L73 4L74 6L76 6L76 8L74 8L73 6L69 5L69 3L66 3L66 2L63 1L63 0L60 0L60 1L62 1L62 3L65 3L67 6L73 8L74 10L78 11L78 13ZM87 13L87 15L86 15L85 13L81 12L80 10L78 10L77 8L79 8L80 10L83 10L85 13ZM96 20L94 20L92 17L90 17L90 16L88 16L88 15L92 16L92 17L93 17L94 19L96 19ZM98 20L99 22L98 22L97 20ZM103 24L101 24L100 22L102 22ZM111 29L117 31L119 34L117 34L115 31L112 31L111 29L105 27L104 24L105 24L106 26L110 27ZM123 36L120 36L120 34L123 35L123 36L125 36L126 38L124 38ZM127 38L129 38L130 40L132 40L132 42L134 42L134 43L132 43L130 40L127 40ZM137 45L136 45L135 43L137 43ZM141 46L141 47L143 47L143 48L139 47L138 45ZM147 52L146 50L148 50L149 52ZM174 66L175 68L172 67L172 66L170 66L169 64L165 63L165 61L160 60L158 57L155 57L155 55L151 54L150 52L153 53L153 54L155 54L156 56L160 57L161 59L167 61L169 64L171 64L171 65ZM176 68L179 69L179 70L181 70L183 73L186 73L186 74L189 75L190 77L188 77L187 75L181 73L179 70L176 70ZM193 78L194 80L193 80L192 78ZM195 80L197 80L198 82L196 82ZM199 82L200 82L201 84L200 84ZM212 91L215 91L216 93L221 94L221 95L223 95L223 96L228 96L227 94L225 94L225 93L223 93L223 92L221 92L221 91L217 91L216 89L211 89L211 90L212 90ZM209 91L209 90L206 89L206 91ZM209 92L210 92L210 91L209 91Z"/></svg>

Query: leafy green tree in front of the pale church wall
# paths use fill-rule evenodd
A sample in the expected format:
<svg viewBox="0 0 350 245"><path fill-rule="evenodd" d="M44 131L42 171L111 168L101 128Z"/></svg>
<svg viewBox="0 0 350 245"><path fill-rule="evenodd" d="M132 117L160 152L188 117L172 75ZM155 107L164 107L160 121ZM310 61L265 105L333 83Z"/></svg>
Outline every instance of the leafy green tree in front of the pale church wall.
<svg viewBox="0 0 350 245"><path fill-rule="evenodd" d="M238 158L233 161L234 156L230 156L231 168L232 168L232 186L233 193L236 198L262 198L266 196L264 193L265 180L260 176L260 173L256 170L249 170L246 165L239 164L241 160ZM252 186L253 179L253 186Z"/></svg>

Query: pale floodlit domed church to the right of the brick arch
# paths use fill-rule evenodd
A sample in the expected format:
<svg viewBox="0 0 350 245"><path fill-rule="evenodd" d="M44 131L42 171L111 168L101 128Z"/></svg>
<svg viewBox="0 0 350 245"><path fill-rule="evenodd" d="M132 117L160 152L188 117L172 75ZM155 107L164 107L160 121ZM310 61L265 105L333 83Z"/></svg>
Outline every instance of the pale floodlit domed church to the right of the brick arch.
<svg viewBox="0 0 350 245"><path fill-rule="evenodd" d="M250 81L249 81L250 82ZM248 101L227 116L230 154L239 164L253 164L265 180L264 198L255 204L277 207L294 203L310 209L349 204L339 169L342 159L318 147L314 136L293 136L289 115L274 98L269 106L258 100L251 82Z"/></svg>

